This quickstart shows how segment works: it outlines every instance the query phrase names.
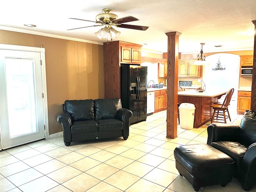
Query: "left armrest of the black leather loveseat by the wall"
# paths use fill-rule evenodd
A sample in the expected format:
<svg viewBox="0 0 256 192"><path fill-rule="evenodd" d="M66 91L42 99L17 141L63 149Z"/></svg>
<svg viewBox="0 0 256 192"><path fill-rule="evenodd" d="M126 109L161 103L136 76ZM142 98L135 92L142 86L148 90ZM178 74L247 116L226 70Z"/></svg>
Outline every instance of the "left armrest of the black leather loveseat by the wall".
<svg viewBox="0 0 256 192"><path fill-rule="evenodd" d="M71 130L72 117L70 113L64 112L57 117L57 121L62 124L64 143L71 142Z"/></svg>

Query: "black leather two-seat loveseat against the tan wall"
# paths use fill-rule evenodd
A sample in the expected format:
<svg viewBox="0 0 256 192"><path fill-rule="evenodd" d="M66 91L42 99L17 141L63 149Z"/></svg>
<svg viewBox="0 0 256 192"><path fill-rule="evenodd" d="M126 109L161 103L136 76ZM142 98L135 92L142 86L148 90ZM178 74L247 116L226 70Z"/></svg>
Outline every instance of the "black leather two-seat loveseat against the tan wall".
<svg viewBox="0 0 256 192"><path fill-rule="evenodd" d="M132 111L122 108L120 98L66 100L63 114L57 118L62 124L64 143L129 136Z"/></svg>

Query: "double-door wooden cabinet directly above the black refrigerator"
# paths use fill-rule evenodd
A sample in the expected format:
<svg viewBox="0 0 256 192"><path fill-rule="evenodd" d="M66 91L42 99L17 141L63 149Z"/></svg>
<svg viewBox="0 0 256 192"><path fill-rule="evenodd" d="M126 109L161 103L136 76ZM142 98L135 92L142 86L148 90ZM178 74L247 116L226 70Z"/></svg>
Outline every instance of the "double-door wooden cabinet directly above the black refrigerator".
<svg viewBox="0 0 256 192"><path fill-rule="evenodd" d="M141 63L141 45L120 43L121 63L140 64Z"/></svg>

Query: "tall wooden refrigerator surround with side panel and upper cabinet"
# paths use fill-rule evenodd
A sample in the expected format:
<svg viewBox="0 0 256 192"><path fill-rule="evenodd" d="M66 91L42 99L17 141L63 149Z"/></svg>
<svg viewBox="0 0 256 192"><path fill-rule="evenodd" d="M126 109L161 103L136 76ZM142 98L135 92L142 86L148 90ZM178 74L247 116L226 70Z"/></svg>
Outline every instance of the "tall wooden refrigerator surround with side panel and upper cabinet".
<svg viewBox="0 0 256 192"><path fill-rule="evenodd" d="M122 41L103 44L104 98L121 97L120 63L140 65L141 47L142 45L139 44Z"/></svg>

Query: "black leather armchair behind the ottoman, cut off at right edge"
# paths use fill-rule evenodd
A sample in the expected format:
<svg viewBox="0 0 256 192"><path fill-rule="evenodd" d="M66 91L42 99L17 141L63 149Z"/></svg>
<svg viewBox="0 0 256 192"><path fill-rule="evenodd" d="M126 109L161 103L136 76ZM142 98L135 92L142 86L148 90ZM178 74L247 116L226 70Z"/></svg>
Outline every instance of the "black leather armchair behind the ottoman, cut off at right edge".
<svg viewBox="0 0 256 192"><path fill-rule="evenodd" d="M256 183L256 113L244 114L240 124L210 124L207 144L234 159L234 177L242 188L251 190Z"/></svg>

